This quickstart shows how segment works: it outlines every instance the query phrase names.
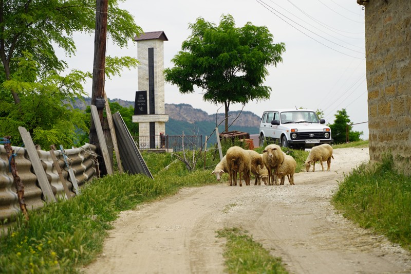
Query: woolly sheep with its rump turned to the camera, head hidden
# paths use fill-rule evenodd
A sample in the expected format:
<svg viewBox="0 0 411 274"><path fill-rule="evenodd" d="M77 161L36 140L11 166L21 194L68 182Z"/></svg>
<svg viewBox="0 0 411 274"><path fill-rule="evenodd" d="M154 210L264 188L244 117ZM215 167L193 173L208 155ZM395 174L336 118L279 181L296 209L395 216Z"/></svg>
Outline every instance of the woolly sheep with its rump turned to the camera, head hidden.
<svg viewBox="0 0 411 274"><path fill-rule="evenodd" d="M235 186L237 185L237 172L239 173L240 187L241 184L241 173L246 181L246 186L250 185L250 171L251 171L251 159L250 155L245 149L234 146L227 150L227 169L230 176L230 186L232 186L232 178L234 176Z"/></svg>

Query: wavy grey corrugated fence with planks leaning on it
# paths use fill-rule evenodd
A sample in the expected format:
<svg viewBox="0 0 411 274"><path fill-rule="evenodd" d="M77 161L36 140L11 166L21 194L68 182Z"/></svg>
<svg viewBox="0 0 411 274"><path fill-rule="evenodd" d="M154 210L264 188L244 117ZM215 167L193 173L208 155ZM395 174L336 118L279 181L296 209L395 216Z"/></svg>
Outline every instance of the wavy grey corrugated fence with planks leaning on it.
<svg viewBox="0 0 411 274"><path fill-rule="evenodd" d="M18 176L20 176L24 185L24 200L28 210L38 209L44 205L44 197L41 188L36 185L37 177L32 172L31 161L27 155L26 148L12 147L14 150L14 159ZM63 188L63 183L60 181L59 174L53 166L53 159L49 151L37 151L41 159L42 166L46 172L47 179L51 185L52 192L55 197L67 198ZM65 153L69 159L70 167L74 172L79 186L83 186L87 181L95 178L95 155L96 147L92 144L85 144L81 148L67 149ZM63 177L70 190L71 196L75 196L73 192L73 184L68 176L68 169L63 159L61 151L54 151L58 159L59 166L62 170ZM0 223L4 220L12 219L20 211L18 204L14 179L10 170L9 157L6 153L4 145L0 145Z"/></svg>

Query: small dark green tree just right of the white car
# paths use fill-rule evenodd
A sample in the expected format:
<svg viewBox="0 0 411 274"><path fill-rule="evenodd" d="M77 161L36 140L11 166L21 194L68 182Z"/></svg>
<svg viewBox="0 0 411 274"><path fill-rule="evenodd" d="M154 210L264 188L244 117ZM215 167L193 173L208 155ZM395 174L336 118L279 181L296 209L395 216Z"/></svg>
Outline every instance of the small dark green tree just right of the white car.
<svg viewBox="0 0 411 274"><path fill-rule="evenodd" d="M347 127L348 127L348 137L349 141L359 141L360 135L363 132L352 131L352 122L349 119L347 111L345 108L341 111L337 111L337 114L334 115L335 120L333 124L328 124L331 129L332 138L334 143L345 143L347 140Z"/></svg>

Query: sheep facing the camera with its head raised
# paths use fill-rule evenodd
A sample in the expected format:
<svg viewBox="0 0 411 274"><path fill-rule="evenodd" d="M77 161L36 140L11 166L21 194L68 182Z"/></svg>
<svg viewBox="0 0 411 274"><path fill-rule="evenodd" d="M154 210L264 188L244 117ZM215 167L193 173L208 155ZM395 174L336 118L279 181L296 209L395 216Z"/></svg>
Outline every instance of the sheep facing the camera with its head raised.
<svg viewBox="0 0 411 274"><path fill-rule="evenodd" d="M277 185L278 181L275 171L283 163L285 155L277 144L269 144L263 150L263 163L268 170L269 185Z"/></svg>

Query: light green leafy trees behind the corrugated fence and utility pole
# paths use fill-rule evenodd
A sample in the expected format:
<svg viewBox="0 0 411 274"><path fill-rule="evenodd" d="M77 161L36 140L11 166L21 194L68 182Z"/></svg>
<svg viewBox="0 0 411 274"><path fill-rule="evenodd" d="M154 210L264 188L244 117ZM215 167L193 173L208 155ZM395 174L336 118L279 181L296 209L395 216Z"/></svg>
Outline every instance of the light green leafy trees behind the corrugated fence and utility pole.
<svg viewBox="0 0 411 274"><path fill-rule="evenodd" d="M118 8L119 1L109 1L107 29L124 47L141 29L129 12ZM0 136L20 139L21 125L43 146L69 145L78 130L87 130L84 117L64 102L85 95L82 83L91 74L65 73L67 64L54 48L68 57L75 54L73 33L93 33L95 14L94 0L0 0ZM107 58L106 74L117 75L122 67L136 65L129 57Z"/></svg>

